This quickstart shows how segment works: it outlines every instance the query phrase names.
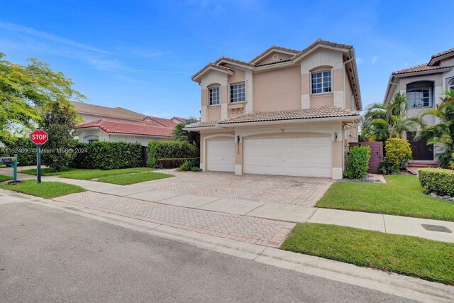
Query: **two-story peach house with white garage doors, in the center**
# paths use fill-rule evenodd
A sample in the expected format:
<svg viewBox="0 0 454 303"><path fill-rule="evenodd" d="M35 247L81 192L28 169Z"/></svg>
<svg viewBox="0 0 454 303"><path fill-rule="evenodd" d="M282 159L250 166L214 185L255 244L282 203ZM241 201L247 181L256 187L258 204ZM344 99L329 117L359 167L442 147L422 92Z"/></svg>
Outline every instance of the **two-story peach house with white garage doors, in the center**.
<svg viewBox="0 0 454 303"><path fill-rule="evenodd" d="M272 46L244 62L221 57L201 87L201 169L341 179L362 109L355 51L321 39Z"/></svg>

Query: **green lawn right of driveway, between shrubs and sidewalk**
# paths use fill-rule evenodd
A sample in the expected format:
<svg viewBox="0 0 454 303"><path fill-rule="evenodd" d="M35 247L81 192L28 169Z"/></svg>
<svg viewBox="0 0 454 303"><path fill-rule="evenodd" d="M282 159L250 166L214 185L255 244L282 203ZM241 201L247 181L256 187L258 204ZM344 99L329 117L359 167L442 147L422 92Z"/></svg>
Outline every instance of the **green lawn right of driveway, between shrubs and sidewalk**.
<svg viewBox="0 0 454 303"><path fill-rule="evenodd" d="M385 176L387 184L336 182L316 207L454 221L454 202L423 194L414 175Z"/></svg>

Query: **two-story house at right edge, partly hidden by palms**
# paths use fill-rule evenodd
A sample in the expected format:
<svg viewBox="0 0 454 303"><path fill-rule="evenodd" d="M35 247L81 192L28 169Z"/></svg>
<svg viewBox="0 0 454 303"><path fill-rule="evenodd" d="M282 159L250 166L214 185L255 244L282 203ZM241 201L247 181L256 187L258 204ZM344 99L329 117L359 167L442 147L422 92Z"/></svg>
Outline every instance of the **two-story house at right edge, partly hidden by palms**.
<svg viewBox="0 0 454 303"><path fill-rule="evenodd" d="M392 100L397 92L406 94L408 100L408 116L419 116L424 109L435 108L440 97L448 89L454 89L454 48L438 53L423 65L392 72L389 77L384 103ZM434 116L425 116L428 125L435 125ZM413 160L433 160L436 150L426 141L413 141L407 134L411 144Z"/></svg>

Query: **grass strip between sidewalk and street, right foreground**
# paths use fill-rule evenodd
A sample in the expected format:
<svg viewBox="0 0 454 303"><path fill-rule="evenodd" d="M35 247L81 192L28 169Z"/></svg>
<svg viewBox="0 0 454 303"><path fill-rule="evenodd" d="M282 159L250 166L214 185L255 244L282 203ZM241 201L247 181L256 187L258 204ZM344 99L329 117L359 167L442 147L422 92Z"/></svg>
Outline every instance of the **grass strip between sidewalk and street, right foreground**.
<svg viewBox="0 0 454 303"><path fill-rule="evenodd" d="M454 285L454 243L305 223L295 226L281 248Z"/></svg>

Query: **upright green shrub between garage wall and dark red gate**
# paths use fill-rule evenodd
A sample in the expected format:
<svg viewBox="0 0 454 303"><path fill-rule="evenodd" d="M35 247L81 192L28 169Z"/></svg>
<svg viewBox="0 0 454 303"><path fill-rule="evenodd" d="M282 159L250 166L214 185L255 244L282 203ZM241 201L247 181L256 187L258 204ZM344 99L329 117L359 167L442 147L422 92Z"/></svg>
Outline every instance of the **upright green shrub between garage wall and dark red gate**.
<svg viewBox="0 0 454 303"><path fill-rule="evenodd" d="M369 170L370 146L352 146L348 150L347 170L344 176L348 179L362 179Z"/></svg>

